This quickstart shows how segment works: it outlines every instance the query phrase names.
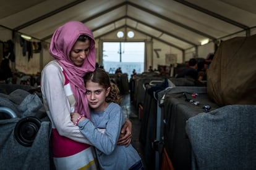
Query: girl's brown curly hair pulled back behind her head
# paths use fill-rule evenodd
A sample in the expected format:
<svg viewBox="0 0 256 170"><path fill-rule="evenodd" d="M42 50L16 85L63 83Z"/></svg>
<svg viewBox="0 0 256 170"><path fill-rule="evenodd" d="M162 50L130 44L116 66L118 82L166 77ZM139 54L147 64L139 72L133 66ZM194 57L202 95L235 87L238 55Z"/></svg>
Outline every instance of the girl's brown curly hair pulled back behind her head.
<svg viewBox="0 0 256 170"><path fill-rule="evenodd" d="M103 88L108 89L110 87L110 91L108 96L106 97L106 102L114 102L120 104L122 101L119 88L116 84L111 83L108 73L103 68L96 68L95 71L87 73L83 80L85 84L87 81L92 81L93 83L98 83Z"/></svg>

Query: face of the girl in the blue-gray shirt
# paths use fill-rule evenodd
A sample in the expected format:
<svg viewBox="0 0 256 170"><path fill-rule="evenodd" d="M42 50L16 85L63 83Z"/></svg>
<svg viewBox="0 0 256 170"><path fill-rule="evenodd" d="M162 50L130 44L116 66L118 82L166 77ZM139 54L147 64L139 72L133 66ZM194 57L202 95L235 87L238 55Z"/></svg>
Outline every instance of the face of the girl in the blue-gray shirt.
<svg viewBox="0 0 256 170"><path fill-rule="evenodd" d="M95 111L103 111L108 107L108 103L105 101L109 94L110 87L108 89L103 88L99 83L94 83L92 81L87 81L86 87L86 97L88 104Z"/></svg>

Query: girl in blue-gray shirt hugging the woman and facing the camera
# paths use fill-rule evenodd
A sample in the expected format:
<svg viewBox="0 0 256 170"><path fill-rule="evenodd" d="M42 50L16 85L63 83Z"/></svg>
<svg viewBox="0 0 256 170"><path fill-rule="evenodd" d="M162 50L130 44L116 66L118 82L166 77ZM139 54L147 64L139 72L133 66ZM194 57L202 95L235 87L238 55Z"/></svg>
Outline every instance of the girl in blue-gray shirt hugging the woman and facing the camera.
<svg viewBox="0 0 256 170"><path fill-rule="evenodd" d="M125 122L121 97L116 84L101 68L85 75L86 96L91 108L91 119L72 113L72 121L80 132L95 145L100 169L143 169L142 160L132 145L117 145Z"/></svg>

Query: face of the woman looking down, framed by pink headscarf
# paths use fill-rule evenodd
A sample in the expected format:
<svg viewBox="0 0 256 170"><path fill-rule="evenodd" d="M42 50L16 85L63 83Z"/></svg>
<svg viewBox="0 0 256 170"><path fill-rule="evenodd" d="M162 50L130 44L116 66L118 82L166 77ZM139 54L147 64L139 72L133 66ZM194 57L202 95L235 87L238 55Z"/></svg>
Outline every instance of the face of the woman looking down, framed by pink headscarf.
<svg viewBox="0 0 256 170"><path fill-rule="evenodd" d="M90 48L90 40L87 40L85 42L77 41L74 44L74 47L72 48L70 52L70 60L74 63L76 66L82 66L83 62L85 61L87 55L89 54L89 48Z"/></svg>

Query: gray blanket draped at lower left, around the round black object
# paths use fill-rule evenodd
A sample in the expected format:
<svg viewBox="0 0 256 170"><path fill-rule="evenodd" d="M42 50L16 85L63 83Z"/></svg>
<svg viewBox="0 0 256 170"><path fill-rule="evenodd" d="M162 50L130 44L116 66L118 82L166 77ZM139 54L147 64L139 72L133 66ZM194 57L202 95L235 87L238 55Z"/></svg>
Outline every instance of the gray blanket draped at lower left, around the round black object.
<svg viewBox="0 0 256 170"><path fill-rule="evenodd" d="M0 94L0 107L11 108L17 115L17 118L0 118L0 169L50 169L51 126L41 99L36 94L17 89L9 95ZM15 126L28 116L41 121L30 147L20 144L15 138Z"/></svg>

